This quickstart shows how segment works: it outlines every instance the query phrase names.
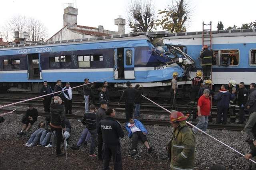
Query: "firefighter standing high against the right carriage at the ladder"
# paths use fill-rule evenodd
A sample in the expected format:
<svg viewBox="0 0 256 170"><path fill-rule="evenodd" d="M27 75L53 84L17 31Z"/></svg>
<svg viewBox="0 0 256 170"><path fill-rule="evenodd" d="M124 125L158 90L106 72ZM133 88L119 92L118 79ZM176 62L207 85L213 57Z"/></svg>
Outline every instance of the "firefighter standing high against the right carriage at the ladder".
<svg viewBox="0 0 256 170"><path fill-rule="evenodd" d="M203 46L203 51L200 55L202 59L202 69L204 80L210 79L211 71L212 71L212 58L213 52L208 49L208 45Z"/></svg>

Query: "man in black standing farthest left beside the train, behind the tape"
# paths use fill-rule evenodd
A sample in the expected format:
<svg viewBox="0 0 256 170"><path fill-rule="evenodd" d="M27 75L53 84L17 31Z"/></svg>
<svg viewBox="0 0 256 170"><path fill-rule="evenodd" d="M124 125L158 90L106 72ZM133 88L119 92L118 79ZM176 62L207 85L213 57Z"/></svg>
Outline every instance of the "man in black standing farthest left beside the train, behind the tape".
<svg viewBox="0 0 256 170"><path fill-rule="evenodd" d="M47 81L44 81L43 87L40 89L40 96L52 93L52 88L48 85ZM53 95L42 97L44 104L44 112L50 113L50 104L52 102Z"/></svg>

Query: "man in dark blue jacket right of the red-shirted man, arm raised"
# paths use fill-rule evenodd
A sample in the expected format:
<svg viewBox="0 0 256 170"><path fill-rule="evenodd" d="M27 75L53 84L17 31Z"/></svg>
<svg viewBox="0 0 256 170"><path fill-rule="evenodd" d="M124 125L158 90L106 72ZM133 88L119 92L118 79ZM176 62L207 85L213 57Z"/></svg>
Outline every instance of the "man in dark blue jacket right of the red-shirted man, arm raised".
<svg viewBox="0 0 256 170"><path fill-rule="evenodd" d="M223 121L222 124L227 123L227 115L228 115L228 108L230 100L234 99L235 91L232 91L232 94L227 90L226 85L222 85L220 87L220 91L218 95L214 96L214 99L218 101L217 103L217 123L220 124L221 122L221 115L223 113Z"/></svg>

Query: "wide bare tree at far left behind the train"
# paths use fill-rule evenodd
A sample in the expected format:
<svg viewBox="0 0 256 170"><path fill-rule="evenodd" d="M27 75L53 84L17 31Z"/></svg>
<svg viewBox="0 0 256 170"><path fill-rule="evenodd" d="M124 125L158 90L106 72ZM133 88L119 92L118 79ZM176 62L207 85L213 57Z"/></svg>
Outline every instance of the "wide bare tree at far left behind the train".
<svg viewBox="0 0 256 170"><path fill-rule="evenodd" d="M14 37L15 31L28 32L28 41L31 42L39 42L47 37L47 28L40 20L20 15L10 18L1 30L6 41L9 41L10 37Z"/></svg>

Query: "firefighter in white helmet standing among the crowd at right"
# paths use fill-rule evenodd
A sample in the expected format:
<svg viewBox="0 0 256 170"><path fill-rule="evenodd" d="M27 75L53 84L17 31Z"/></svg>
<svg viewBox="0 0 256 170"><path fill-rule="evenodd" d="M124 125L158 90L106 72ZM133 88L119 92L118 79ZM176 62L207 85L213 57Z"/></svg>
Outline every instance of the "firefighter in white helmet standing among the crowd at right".
<svg viewBox="0 0 256 170"><path fill-rule="evenodd" d="M237 90L236 90L236 81L230 80L228 81L228 91L230 93L234 94L234 99L230 100L229 102L229 115L230 115L230 123L235 123L236 121L236 96L237 96Z"/></svg>

